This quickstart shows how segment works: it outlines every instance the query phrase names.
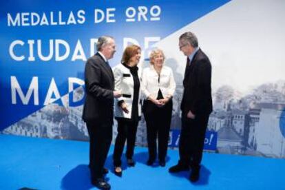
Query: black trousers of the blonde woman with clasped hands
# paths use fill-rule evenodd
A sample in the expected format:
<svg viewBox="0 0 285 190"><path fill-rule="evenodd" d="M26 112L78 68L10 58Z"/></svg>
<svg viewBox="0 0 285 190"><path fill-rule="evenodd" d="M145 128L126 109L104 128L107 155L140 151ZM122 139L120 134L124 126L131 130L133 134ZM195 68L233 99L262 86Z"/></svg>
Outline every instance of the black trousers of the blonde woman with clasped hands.
<svg viewBox="0 0 285 190"><path fill-rule="evenodd" d="M156 160L158 138L158 159L165 161L172 116L172 100L164 107L158 107L151 101L144 101L144 115L147 123L147 145L149 160Z"/></svg>

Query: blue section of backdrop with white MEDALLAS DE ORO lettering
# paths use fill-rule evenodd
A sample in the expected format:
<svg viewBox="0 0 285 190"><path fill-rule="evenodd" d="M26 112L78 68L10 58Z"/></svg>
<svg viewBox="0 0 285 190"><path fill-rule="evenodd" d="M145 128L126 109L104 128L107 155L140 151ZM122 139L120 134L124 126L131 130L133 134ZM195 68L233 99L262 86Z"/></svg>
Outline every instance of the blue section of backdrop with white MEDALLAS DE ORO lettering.
<svg viewBox="0 0 285 190"><path fill-rule="evenodd" d="M83 80L85 60L94 54L98 36L116 39L110 61L116 65L124 41L136 41L147 54L158 39L226 2L1 1L0 130L68 94L68 78Z"/></svg>

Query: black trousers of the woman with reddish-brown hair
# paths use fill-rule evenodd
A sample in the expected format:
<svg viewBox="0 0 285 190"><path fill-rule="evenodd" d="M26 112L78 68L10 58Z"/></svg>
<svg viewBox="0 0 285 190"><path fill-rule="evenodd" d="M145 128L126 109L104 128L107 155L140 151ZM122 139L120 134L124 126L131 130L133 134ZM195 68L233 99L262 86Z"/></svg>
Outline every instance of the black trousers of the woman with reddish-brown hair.
<svg viewBox="0 0 285 190"><path fill-rule="evenodd" d="M134 147L136 142L136 130L138 129L138 120L120 119L118 118L118 135L116 137L113 160L114 166L120 167L122 165L122 154L127 140L127 159L134 156Z"/></svg>

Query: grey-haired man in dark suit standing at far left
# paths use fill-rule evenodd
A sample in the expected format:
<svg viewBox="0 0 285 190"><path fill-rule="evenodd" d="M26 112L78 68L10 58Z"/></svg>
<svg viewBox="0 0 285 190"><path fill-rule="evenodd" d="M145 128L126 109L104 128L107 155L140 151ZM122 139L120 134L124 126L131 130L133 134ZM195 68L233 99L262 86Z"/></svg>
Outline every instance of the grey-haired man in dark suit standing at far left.
<svg viewBox="0 0 285 190"><path fill-rule="evenodd" d="M116 45L111 36L101 36L97 53L85 65L85 103L83 120L89 134L89 168L92 184L99 189L110 189L103 175L105 160L112 141L114 98L120 92L114 91L114 76L108 60L112 59Z"/></svg>

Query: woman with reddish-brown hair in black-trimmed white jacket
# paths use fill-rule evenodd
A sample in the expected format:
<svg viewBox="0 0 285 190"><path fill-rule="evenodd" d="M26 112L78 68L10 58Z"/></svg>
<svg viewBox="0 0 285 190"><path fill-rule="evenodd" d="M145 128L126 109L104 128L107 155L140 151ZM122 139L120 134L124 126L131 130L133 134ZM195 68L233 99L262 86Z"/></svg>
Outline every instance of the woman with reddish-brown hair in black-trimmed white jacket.
<svg viewBox="0 0 285 190"><path fill-rule="evenodd" d="M140 47L129 45L123 52L121 64L114 67L115 89L122 92L120 98L115 99L115 118L118 121L118 135L116 137L113 160L114 173L122 176L121 157L125 141L127 140L127 164L134 167L134 147L136 130L141 117L140 102Z"/></svg>

